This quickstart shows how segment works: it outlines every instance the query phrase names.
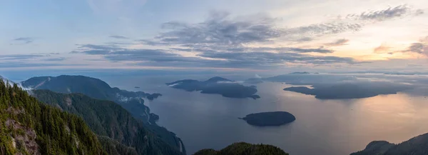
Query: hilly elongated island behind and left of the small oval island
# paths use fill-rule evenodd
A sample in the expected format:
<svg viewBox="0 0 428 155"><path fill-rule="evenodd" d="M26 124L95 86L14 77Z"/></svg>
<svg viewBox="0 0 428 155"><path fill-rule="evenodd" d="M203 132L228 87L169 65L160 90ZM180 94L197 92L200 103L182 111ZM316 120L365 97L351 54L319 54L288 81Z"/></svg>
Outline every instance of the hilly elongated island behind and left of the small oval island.
<svg viewBox="0 0 428 155"><path fill-rule="evenodd" d="M236 81L225 79L222 77L213 77L207 81L198 81L193 79L185 79L167 83L166 85L185 91L200 91L203 94L220 94L230 98L251 98L259 99L256 95L257 89L255 86L244 86Z"/></svg>

